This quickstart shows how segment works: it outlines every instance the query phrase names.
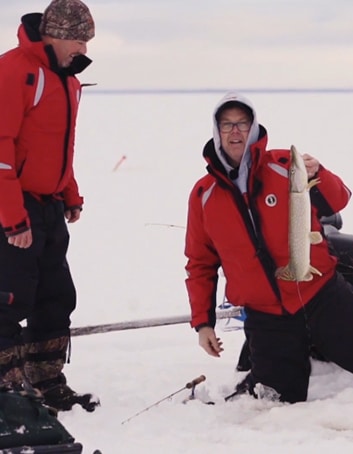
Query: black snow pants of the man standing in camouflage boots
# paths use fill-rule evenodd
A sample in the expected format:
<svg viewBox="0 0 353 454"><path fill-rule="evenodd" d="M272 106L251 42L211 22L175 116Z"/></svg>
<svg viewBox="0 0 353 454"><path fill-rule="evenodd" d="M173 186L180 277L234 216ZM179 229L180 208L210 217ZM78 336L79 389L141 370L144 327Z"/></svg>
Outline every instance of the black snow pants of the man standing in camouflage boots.
<svg viewBox="0 0 353 454"><path fill-rule="evenodd" d="M17 344L20 322L27 320L27 340L68 335L76 291L66 253L69 233L64 204L53 197L24 194L33 235L28 249L8 244L0 232L0 291L12 292L12 304L0 305L0 350Z"/></svg>

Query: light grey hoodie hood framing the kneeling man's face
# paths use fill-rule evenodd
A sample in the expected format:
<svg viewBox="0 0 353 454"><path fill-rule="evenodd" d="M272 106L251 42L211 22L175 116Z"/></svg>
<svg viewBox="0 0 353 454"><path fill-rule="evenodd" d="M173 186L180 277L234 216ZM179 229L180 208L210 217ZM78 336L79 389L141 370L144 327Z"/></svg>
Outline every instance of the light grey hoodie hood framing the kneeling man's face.
<svg viewBox="0 0 353 454"><path fill-rule="evenodd" d="M248 140L245 144L244 154L242 156L242 159L241 159L241 162L239 165L238 177L235 180L232 180L233 183L238 186L240 191L242 193L245 193L247 190L246 184L247 184L247 179L248 179L248 172L249 172L249 168L251 167L250 147L253 143L258 141L260 127L257 122L256 112L255 112L253 105L243 95L240 95L236 92L229 92L216 105L216 108L213 113L213 141L214 141L216 154L217 154L219 160L221 161L223 167L225 168L229 177L230 177L230 172L233 170L233 167L228 163L226 156L224 154L224 151L222 150L221 138L220 138L220 134L219 134L216 114L224 104L226 104L230 101L236 101L241 104L244 104L249 109L251 109L253 117L254 117L250 131L249 131Z"/></svg>

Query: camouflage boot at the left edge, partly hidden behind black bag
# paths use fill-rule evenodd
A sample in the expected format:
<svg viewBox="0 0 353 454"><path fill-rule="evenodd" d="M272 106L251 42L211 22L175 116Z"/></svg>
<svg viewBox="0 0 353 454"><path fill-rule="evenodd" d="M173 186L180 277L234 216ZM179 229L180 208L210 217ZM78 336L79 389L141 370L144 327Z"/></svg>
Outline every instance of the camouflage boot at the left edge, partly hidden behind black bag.
<svg viewBox="0 0 353 454"><path fill-rule="evenodd" d="M15 390L23 389L23 361L21 346L0 350L0 386L6 386Z"/></svg>

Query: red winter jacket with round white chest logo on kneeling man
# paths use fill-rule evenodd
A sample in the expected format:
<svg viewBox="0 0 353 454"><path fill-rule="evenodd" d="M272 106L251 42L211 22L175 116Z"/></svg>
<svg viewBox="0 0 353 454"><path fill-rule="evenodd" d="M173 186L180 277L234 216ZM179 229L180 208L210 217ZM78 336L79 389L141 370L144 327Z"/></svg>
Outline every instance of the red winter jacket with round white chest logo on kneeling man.
<svg viewBox="0 0 353 454"><path fill-rule="evenodd" d="M261 126L260 137L250 147L252 166L245 195L227 176L214 140L205 146L209 174L191 192L186 232L186 285L193 327L215 324L219 267L231 303L272 314L295 313L334 274L336 259L324 240L311 247L311 265L321 277L314 275L313 280L298 284L275 278L276 268L289 262L289 184L283 175L289 170L290 154L289 150L266 151L267 134ZM282 175L274 167L283 168ZM319 218L340 211L350 198L340 178L322 166L318 177L320 184L310 191L312 231L322 231ZM273 196L276 204L269 203Z"/></svg>

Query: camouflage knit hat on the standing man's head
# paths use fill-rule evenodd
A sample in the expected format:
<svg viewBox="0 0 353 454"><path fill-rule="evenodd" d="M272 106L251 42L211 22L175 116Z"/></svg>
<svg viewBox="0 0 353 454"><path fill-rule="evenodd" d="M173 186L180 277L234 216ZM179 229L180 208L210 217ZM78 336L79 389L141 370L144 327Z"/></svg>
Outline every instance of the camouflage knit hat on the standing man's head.
<svg viewBox="0 0 353 454"><path fill-rule="evenodd" d="M39 31L52 38L87 42L94 37L94 21L80 0L53 0L43 13Z"/></svg>

